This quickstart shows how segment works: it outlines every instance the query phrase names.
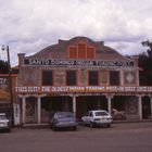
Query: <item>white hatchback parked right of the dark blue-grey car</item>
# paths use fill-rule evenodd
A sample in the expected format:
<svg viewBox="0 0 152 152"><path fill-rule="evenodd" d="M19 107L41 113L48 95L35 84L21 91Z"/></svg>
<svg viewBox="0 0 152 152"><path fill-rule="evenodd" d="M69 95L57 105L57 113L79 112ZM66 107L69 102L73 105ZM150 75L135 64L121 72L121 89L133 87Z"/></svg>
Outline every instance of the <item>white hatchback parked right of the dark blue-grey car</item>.
<svg viewBox="0 0 152 152"><path fill-rule="evenodd" d="M113 122L112 116L104 110L89 111L81 117L81 121L84 125L89 125L91 128L96 126L110 127Z"/></svg>

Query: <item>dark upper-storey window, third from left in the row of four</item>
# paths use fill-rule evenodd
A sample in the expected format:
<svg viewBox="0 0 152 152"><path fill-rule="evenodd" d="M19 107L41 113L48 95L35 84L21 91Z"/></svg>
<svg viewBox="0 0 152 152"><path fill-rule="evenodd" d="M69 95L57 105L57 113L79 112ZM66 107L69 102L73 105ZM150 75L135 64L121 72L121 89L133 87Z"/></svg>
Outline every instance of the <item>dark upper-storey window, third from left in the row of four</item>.
<svg viewBox="0 0 152 152"><path fill-rule="evenodd" d="M89 86L98 86L98 72L89 71Z"/></svg>

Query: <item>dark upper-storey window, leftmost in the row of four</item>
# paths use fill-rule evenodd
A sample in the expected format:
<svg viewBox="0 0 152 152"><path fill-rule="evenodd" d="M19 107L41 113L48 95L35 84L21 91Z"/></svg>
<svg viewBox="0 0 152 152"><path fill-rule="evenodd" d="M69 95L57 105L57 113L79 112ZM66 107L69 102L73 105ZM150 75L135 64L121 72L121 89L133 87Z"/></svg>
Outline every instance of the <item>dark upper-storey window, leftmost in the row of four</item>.
<svg viewBox="0 0 152 152"><path fill-rule="evenodd" d="M53 72L42 71L42 86L52 86L52 85L53 85Z"/></svg>

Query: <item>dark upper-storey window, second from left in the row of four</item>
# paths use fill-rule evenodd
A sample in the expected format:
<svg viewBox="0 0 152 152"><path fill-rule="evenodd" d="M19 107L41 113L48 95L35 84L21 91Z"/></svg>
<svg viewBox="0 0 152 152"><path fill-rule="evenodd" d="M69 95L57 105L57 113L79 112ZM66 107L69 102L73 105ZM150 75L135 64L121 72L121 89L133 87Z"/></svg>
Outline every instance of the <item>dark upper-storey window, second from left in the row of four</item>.
<svg viewBox="0 0 152 152"><path fill-rule="evenodd" d="M66 85L76 86L76 71L66 71Z"/></svg>

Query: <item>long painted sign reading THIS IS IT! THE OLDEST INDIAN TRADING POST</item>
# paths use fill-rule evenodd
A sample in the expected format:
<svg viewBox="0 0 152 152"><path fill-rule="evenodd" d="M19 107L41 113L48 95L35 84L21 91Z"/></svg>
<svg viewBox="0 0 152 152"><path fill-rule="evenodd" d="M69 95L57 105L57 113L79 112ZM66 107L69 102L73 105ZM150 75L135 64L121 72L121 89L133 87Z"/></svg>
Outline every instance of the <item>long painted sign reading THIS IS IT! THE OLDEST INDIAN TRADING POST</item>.
<svg viewBox="0 0 152 152"><path fill-rule="evenodd" d="M15 87L16 93L73 93L73 92L97 92L97 93L106 93L106 92L152 92L152 87L123 87L123 86L56 86L56 87Z"/></svg>

